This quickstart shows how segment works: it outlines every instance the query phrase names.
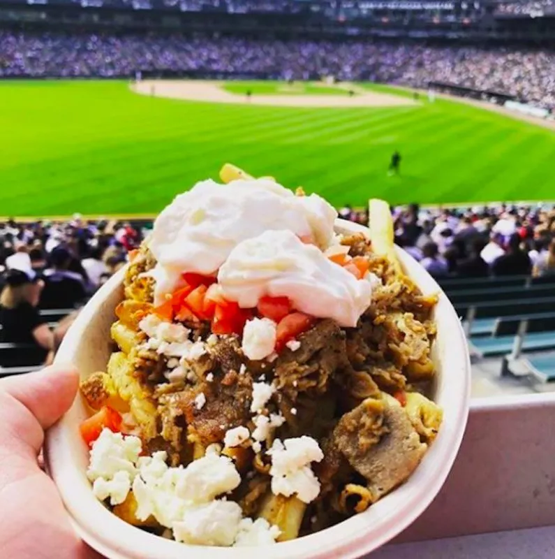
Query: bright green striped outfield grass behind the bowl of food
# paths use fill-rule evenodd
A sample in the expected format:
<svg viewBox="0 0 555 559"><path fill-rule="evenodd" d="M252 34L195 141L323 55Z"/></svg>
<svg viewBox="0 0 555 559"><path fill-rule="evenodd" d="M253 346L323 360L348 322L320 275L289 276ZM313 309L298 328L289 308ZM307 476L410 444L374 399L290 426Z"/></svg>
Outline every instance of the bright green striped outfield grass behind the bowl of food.
<svg viewBox="0 0 555 559"><path fill-rule="evenodd" d="M154 213L224 161L335 205L555 198L553 131L452 101L273 108L2 82L0 129L0 215Z"/></svg>

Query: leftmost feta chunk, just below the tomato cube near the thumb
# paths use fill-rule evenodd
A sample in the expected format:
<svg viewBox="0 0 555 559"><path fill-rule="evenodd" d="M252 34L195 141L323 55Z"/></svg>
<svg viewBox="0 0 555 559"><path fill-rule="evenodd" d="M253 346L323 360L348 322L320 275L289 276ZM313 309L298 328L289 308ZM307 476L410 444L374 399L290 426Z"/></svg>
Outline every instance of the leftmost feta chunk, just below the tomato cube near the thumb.
<svg viewBox="0 0 555 559"><path fill-rule="evenodd" d="M137 470L135 463L142 450L138 437L124 437L121 433L112 433L110 429L103 429L100 437L94 442L87 477L95 481L99 477L110 481L117 472L128 472L131 478Z"/></svg>

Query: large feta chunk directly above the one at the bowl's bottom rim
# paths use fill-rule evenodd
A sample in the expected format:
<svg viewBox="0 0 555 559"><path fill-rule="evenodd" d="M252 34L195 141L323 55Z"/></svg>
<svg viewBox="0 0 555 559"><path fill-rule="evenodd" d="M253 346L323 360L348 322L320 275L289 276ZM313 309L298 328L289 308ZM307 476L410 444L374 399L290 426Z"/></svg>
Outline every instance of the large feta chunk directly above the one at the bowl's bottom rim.
<svg viewBox="0 0 555 559"><path fill-rule="evenodd" d="M177 495L188 502L204 504L233 491L240 483L241 476L230 458L209 453L185 468L177 483Z"/></svg>

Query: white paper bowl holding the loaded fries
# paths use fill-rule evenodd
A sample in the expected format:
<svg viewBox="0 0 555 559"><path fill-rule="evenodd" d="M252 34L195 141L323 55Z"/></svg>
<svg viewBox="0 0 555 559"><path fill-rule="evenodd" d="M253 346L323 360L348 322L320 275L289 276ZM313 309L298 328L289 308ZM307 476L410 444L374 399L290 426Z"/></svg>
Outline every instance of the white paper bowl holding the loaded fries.
<svg viewBox="0 0 555 559"><path fill-rule="evenodd" d="M339 232L368 229L338 220ZM79 434L87 416L80 397L47 433L47 467L58 486L77 534L110 559L295 559L355 558L388 542L420 516L434 499L450 471L464 434L470 393L470 361L464 333L450 301L438 284L406 252L397 249L406 273L424 293L439 293L435 310L438 336L434 360L438 368L434 400L443 408L443 425L424 460L406 484L373 504L367 511L332 528L264 549L185 546L121 521L94 498L87 480L88 450ZM105 370L111 350L110 325L123 296L120 270L89 301L70 328L57 355L72 362L82 377Z"/></svg>

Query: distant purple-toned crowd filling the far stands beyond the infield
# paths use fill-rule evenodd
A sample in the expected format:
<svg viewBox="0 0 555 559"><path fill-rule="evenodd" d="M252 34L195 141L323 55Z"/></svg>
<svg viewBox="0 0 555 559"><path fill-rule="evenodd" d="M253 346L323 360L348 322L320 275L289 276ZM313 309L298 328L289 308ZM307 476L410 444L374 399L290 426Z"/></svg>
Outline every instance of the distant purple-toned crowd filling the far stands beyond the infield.
<svg viewBox="0 0 555 559"><path fill-rule="evenodd" d="M555 107L555 52L549 50L0 31L0 77L131 77L138 71L295 80L332 75L413 87L447 82Z"/></svg>

